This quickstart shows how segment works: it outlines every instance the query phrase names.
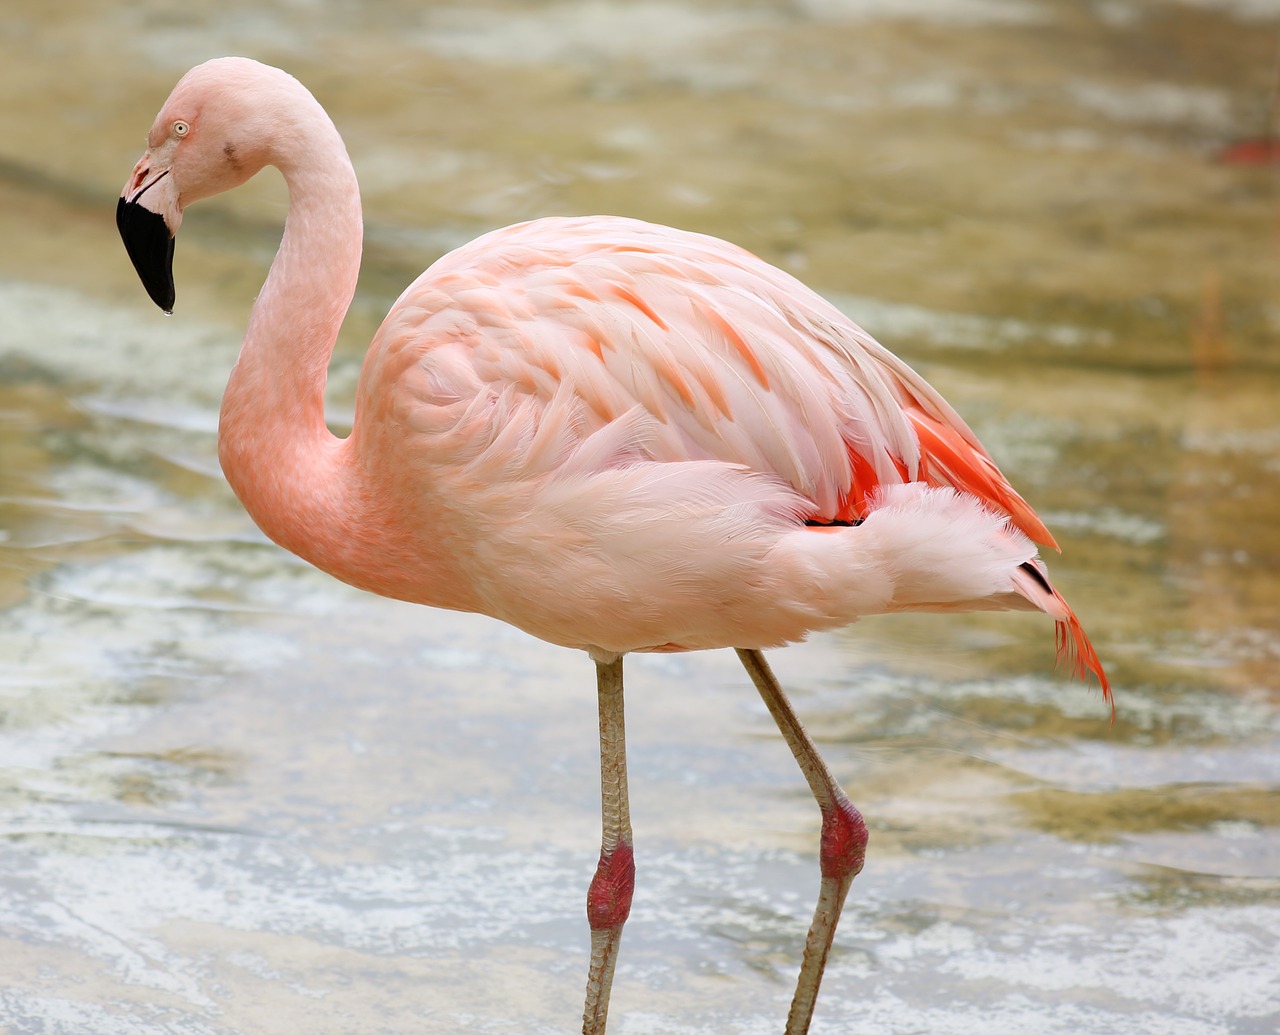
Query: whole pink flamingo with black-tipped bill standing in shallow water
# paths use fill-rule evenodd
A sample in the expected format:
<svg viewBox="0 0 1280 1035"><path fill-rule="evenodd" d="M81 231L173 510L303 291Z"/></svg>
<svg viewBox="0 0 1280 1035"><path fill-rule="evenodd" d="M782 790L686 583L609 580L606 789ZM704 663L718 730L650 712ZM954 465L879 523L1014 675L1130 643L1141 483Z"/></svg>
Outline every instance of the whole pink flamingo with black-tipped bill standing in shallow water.
<svg viewBox="0 0 1280 1035"><path fill-rule="evenodd" d="M635 885L622 659L733 647L822 814L786 1025L803 1035L868 835L762 651L867 614L1041 610L1060 660L1111 701L1037 557L1053 537L942 397L836 307L733 244L634 219L538 219L438 260L381 324L337 438L324 385L360 270L360 191L297 79L243 58L183 75L118 228L172 312L183 211L268 165L289 207L223 399L232 489L270 539L352 586L595 663L584 1035L605 1030Z"/></svg>

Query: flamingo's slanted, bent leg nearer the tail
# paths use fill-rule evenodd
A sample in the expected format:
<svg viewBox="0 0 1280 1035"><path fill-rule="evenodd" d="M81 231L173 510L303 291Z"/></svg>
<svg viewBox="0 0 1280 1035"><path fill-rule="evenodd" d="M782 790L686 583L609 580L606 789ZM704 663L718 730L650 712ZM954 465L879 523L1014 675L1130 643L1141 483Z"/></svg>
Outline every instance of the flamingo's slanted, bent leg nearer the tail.
<svg viewBox="0 0 1280 1035"><path fill-rule="evenodd" d="M758 650L739 650L737 656L751 677L751 682L755 683L755 688L760 691L765 707L769 709L773 722L778 724L778 731L800 764L800 771L809 782L809 788L822 810L822 847L819 849L822 884L786 1027L786 1035L805 1035L809 1031L809 1022L813 1020L818 985L822 984L822 972L827 966L831 943L836 936L836 924L845 905L845 896L849 894L849 885L854 883L854 878L863 869L863 860L867 856L867 824L831 775L831 770L827 769L827 764L818 754L813 739L800 724L800 719L792 710L786 693L782 692L782 687L764 660L764 655Z"/></svg>

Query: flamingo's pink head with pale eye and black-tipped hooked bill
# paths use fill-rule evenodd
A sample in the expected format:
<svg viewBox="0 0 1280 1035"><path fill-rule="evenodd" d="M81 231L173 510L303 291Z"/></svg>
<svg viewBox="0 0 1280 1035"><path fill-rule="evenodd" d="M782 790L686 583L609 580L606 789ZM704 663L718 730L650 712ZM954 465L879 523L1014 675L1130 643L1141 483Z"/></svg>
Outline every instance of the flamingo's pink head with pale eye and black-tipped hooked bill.
<svg viewBox="0 0 1280 1035"><path fill-rule="evenodd" d="M115 206L115 225L147 294L165 312L173 312L173 247L183 210L273 162L291 133L287 105L276 104L289 84L300 88L279 69L216 58L183 75L156 115Z"/></svg>

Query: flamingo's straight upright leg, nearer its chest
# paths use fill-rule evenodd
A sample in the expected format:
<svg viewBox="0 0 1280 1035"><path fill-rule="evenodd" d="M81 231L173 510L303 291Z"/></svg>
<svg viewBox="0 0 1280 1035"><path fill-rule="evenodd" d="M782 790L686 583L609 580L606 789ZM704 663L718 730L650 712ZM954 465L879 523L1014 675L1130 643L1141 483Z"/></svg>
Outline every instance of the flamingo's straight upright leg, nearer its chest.
<svg viewBox="0 0 1280 1035"><path fill-rule="evenodd" d="M600 862L586 893L591 926L591 963L586 975L582 1035L604 1035L609 989L631 912L636 867L631 848L631 809L627 802L627 742L622 720L622 658L595 661L600 702Z"/></svg>

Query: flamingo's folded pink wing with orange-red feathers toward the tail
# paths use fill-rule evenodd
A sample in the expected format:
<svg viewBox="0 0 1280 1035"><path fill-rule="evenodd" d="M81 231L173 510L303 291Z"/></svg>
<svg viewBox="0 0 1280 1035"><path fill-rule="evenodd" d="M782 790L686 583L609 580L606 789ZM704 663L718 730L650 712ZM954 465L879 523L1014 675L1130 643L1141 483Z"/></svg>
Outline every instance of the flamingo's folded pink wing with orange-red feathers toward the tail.
<svg viewBox="0 0 1280 1035"><path fill-rule="evenodd" d="M457 385L458 398L477 384L525 393L544 412L572 398L580 436L640 407L654 422L649 459L780 477L818 521L861 518L878 486L920 480L1053 542L923 377L726 242L617 217L544 219L449 253L404 298L435 391L463 366L475 383ZM465 361L447 358L457 349Z"/></svg>

